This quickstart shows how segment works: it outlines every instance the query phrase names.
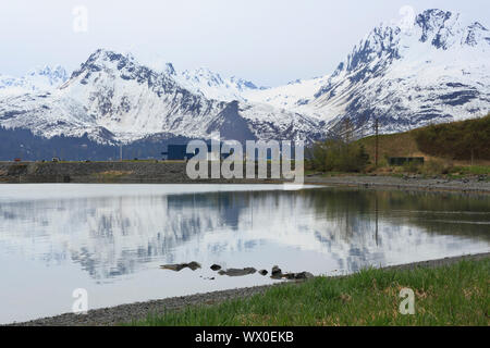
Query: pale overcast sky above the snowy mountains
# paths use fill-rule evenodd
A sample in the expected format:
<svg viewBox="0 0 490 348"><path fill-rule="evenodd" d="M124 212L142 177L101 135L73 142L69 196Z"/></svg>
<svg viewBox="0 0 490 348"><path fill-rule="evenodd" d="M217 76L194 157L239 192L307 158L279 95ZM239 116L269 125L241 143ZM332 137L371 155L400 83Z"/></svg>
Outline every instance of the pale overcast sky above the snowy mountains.
<svg viewBox="0 0 490 348"><path fill-rule="evenodd" d="M330 74L375 26L412 7L490 28L488 0L1 0L0 74L73 71L98 48L260 86Z"/></svg>

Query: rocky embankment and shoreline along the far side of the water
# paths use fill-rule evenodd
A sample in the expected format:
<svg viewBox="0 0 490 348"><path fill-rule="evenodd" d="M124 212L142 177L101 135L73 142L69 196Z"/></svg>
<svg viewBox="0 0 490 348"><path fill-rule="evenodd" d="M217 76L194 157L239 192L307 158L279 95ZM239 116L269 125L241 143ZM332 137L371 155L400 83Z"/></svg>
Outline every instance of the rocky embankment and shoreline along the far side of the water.
<svg viewBox="0 0 490 348"><path fill-rule="evenodd" d="M282 184L280 179L189 179L185 162L0 162L0 183L77 184ZM490 177L473 175L448 178L419 175L307 175L305 184L360 189L400 189L490 194Z"/></svg>

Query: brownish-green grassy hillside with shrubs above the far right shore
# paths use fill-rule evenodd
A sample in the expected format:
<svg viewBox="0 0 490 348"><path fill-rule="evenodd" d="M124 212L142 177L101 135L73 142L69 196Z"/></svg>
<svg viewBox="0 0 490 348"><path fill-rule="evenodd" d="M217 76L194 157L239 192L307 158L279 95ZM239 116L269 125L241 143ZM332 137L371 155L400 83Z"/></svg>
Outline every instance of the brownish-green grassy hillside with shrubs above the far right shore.
<svg viewBox="0 0 490 348"><path fill-rule="evenodd" d="M475 120L429 125L405 133L380 135L378 139L376 136L369 136L355 142L364 146L369 154L370 164L364 169L368 173L376 172L382 175L392 172L394 169L388 165L388 158L390 157L424 157L426 165L425 169L420 169L421 174L448 174L449 172L452 173L453 169L461 169L455 173L461 173L461 175L489 175L490 147L487 145L490 141L489 130L490 114ZM377 144L378 165L375 167ZM458 165L457 167L453 165L453 161L458 162L454 163L454 165ZM318 166L318 164L316 165ZM405 172L411 173L411 171ZM412 172L415 172L415 169Z"/></svg>

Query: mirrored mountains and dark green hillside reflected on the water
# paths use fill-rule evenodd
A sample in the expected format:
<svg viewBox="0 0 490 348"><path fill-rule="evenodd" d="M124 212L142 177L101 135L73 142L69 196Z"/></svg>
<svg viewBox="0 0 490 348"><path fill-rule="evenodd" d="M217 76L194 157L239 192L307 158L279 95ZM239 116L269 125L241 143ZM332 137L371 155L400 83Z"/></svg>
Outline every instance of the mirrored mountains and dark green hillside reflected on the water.
<svg viewBox="0 0 490 348"><path fill-rule="evenodd" d="M136 273L152 261L231 262L265 245L273 246L279 264L291 261L293 248L305 258L323 254L345 272L490 246L487 197L402 191L124 190L117 197L2 200L0 220L0 252L49 266L73 262L95 279ZM331 269L326 262L311 271Z"/></svg>

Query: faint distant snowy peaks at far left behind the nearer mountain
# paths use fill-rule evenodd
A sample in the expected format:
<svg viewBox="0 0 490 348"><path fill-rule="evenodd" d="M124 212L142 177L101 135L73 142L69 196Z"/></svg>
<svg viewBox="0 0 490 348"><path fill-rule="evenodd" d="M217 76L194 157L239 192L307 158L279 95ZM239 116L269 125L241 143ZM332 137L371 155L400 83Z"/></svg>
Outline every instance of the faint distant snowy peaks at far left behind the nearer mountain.
<svg viewBox="0 0 490 348"><path fill-rule="evenodd" d="M0 94L52 90L69 79L62 66L36 69L22 77L0 75Z"/></svg>

